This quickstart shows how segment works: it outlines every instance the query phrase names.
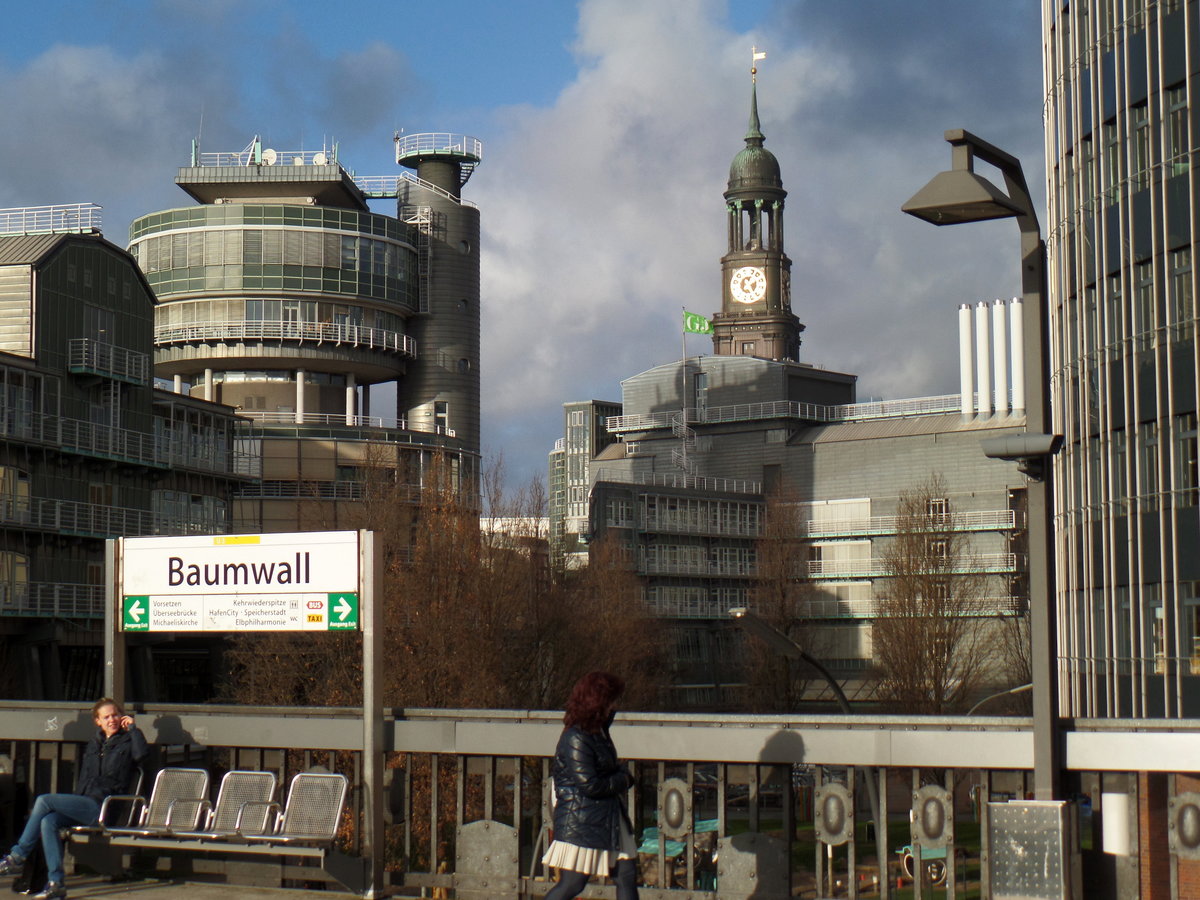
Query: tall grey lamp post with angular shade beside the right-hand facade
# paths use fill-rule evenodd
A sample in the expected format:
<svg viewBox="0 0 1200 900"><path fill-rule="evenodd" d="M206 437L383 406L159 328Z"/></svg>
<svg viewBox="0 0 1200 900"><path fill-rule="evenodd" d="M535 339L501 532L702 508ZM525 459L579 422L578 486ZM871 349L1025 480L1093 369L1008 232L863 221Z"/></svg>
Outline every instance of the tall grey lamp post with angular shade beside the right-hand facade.
<svg viewBox="0 0 1200 900"><path fill-rule="evenodd" d="M1049 457L1062 439L1050 421L1046 248L1033 211L1021 163L968 131L946 132L952 168L938 173L900 209L937 226L1015 218L1021 232L1021 293L1025 306L1025 383L1028 385L1024 439L995 439L984 452L1021 463L1027 490L1030 635L1033 661L1033 793L1039 800L1060 796L1057 635L1054 596L1054 518ZM1004 176L1001 191L976 174L974 161L995 166Z"/></svg>

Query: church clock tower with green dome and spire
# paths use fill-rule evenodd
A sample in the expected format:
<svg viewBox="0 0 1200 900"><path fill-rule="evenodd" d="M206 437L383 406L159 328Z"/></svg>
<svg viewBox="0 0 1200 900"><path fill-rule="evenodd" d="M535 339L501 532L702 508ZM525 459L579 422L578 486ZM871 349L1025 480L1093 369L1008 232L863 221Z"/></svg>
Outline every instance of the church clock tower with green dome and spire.
<svg viewBox="0 0 1200 900"><path fill-rule="evenodd" d="M762 59L754 53L754 60ZM713 353L796 360L804 325L792 314L792 260L784 253L784 190L779 161L762 144L757 68L750 68L750 128L730 166L725 191L728 250L721 257L721 311L713 317Z"/></svg>

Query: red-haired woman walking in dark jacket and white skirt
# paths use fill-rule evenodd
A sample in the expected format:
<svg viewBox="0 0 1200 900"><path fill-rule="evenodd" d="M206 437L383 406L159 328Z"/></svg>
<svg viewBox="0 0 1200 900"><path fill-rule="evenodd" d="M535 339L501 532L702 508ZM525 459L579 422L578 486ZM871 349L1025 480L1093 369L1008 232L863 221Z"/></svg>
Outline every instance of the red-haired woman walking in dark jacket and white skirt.
<svg viewBox="0 0 1200 900"><path fill-rule="evenodd" d="M578 896L593 875L616 881L617 900L637 900L637 845L624 802L634 776L608 737L624 690L620 677L590 672L566 702L552 769L554 840L541 860L559 881L545 900Z"/></svg>

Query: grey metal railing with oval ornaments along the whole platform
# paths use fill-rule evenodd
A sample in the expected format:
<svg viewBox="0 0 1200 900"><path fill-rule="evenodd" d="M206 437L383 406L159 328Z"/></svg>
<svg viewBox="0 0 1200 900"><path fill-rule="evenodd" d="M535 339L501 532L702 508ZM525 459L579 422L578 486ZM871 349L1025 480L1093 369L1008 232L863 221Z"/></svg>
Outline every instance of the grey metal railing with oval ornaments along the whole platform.
<svg viewBox="0 0 1200 900"><path fill-rule="evenodd" d="M540 856L560 713L396 709L365 726L360 709L132 710L154 746L151 768L205 767L214 784L229 769L268 769L281 784L313 767L346 774L352 791L338 850L354 864L331 874L269 854L247 860L122 848L121 869L238 884L239 892L325 886L364 896L428 896L446 888L455 898L515 900L548 889ZM380 725L382 734L365 733ZM1081 882L1087 896L1104 896L1129 878L1136 886L1140 868L1168 876L1170 893L1154 896L1188 896L1200 871L1200 836L1176 826L1198 815L1200 779L1190 768L1200 760L1200 721L1063 726L1063 790L1074 802L1054 808L1064 823L1062 877ZM80 704L0 703L0 839L12 838L34 796L71 790L91 730ZM622 713L613 739L636 775L629 803L644 900L896 896L898 880L905 896L913 888L918 896L935 888L938 896L980 889L989 896L989 884L1027 877L1010 858L1016 839L991 820L1000 815L996 802L1015 808L1031 796L1030 719ZM870 826L869 782L883 834ZM936 832L930 810L944 820ZM1080 872L1072 869L1076 860ZM912 884L908 870L924 880ZM78 884L73 896L125 889L95 878ZM180 889L137 884L137 893L163 898ZM1111 887L1094 893L1090 884ZM595 884L586 896L611 898L613 889Z"/></svg>

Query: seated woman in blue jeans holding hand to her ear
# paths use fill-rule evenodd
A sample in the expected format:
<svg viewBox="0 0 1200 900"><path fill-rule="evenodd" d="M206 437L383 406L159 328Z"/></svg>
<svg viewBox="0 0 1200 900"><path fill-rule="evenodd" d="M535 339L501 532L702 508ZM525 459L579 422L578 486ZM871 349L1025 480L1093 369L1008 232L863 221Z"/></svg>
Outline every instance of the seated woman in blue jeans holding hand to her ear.
<svg viewBox="0 0 1200 900"><path fill-rule="evenodd" d="M95 824L106 797L128 791L133 767L149 748L132 715L125 715L115 700L97 700L91 708L97 731L88 742L79 764L74 793L46 793L34 803L25 830L8 856L0 858L0 875L17 875L37 841L46 853L47 883L34 900L67 895L64 887L62 838L59 830L76 824Z"/></svg>

